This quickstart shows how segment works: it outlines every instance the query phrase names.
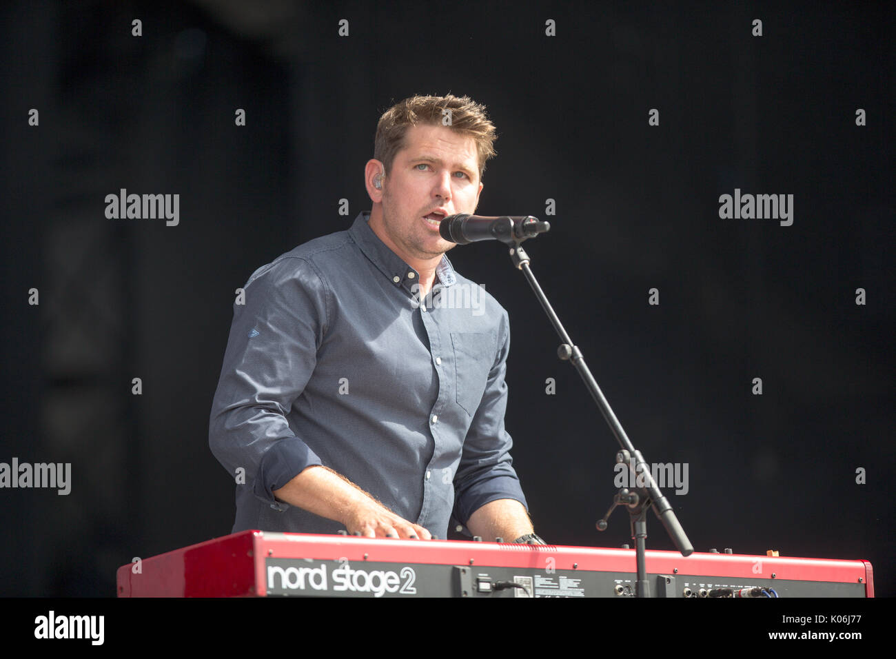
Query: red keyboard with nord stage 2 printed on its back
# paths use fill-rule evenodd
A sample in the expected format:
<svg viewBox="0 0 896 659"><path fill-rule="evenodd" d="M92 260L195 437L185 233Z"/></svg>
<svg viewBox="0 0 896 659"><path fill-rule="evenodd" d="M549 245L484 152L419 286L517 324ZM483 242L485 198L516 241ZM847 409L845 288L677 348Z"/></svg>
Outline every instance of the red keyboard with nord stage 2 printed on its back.
<svg viewBox="0 0 896 659"><path fill-rule="evenodd" d="M647 551L654 597L874 597L866 560ZM244 531L117 570L119 597L629 597L634 550Z"/></svg>

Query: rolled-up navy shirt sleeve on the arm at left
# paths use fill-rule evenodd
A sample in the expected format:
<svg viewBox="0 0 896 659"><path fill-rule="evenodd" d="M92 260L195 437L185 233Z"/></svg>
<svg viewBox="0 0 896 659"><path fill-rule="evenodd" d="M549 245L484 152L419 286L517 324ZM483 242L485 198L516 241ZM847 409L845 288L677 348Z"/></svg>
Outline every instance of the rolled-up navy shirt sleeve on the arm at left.
<svg viewBox="0 0 896 659"><path fill-rule="evenodd" d="M232 477L273 507L277 490L320 458L287 415L314 372L332 307L314 264L288 256L260 268L237 297L211 405L209 447Z"/></svg>

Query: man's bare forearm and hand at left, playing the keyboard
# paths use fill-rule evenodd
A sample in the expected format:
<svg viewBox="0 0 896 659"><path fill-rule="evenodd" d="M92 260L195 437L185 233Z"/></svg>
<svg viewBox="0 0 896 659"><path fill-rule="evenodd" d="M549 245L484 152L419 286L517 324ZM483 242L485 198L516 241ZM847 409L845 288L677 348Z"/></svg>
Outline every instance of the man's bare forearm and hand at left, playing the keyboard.
<svg viewBox="0 0 896 659"><path fill-rule="evenodd" d="M313 465L299 473L274 497L345 525L349 533L368 538L432 540L422 526L395 515L353 482L328 467Z"/></svg>

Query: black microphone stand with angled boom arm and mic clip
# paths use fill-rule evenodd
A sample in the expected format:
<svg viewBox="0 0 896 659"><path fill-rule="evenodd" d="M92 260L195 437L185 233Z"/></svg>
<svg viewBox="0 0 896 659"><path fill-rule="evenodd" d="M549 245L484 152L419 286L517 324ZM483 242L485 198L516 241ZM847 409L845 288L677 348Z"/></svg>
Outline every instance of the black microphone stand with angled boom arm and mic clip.
<svg viewBox="0 0 896 659"><path fill-rule="evenodd" d="M510 247L510 257L513 261L513 265L526 275L526 280L535 292L538 302L541 303L541 308L545 310L547 317L551 321L551 325L554 325L556 333L560 336L560 340L563 343L557 348L557 356L561 360L572 362L573 367L575 367L582 377L585 386L588 387L591 398L598 404L600 413L604 415L604 419L607 421L610 430L613 432L613 436L616 437L616 441L618 441L619 446L622 447L622 450L616 454L616 462L624 463L626 465L626 468L630 472L630 476L634 479L635 487L632 489L621 488L616 493L616 497L613 499L613 506L610 507L610 509L607 510L607 514L599 520L597 528L599 531L607 529L607 517L613 513L616 506L624 505L628 508L628 515L632 528L632 538L635 541L635 561L637 570L635 596L650 597L650 582L647 580L645 559L648 508L652 508L653 513L659 517L659 521L666 529L666 533L668 533L672 542L675 543L676 548L681 552L682 556L690 556L694 553L694 547L691 545L691 541L687 539L685 530L678 523L678 518L676 517L675 512L673 512L672 506L669 504L666 497L663 496L662 492L659 491L659 486L656 481L654 481L653 475L650 473L650 466L644 460L641 451L635 450L631 440L629 440L628 436L625 434L625 429L623 429L619 420L616 419L616 414L610 409L607 399L604 397L603 392L600 391L598 383L591 375L591 371L588 369L584 357L582 357L582 351L579 350L578 346L573 344L572 339L569 338L569 334L566 334L564 326L560 323L560 318L554 313L554 308L552 308L550 302L547 301L547 296L538 285L535 275L532 274L529 267L529 255L523 250L521 243L527 238L534 238L537 234L534 231L527 232L523 229L527 224L530 224L528 221L524 222L522 227L517 228L513 226L513 221L510 218L507 218L506 220L508 226L504 230L495 231L495 237ZM532 218L532 220L534 220L534 218ZM550 225L547 224L547 222L539 222L539 224L542 224L541 231L550 229Z"/></svg>

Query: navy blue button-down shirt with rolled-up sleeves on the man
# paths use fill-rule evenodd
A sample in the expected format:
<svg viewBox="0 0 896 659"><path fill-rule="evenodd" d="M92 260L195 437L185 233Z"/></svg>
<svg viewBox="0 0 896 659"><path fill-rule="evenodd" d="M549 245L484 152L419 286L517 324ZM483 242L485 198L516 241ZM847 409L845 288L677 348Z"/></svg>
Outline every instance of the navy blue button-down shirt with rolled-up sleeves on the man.
<svg viewBox="0 0 896 659"><path fill-rule="evenodd" d="M312 464L440 538L452 514L526 506L504 429L507 312L447 256L421 297L368 216L259 268L234 304L209 428L237 481L234 533L344 529L271 493Z"/></svg>

